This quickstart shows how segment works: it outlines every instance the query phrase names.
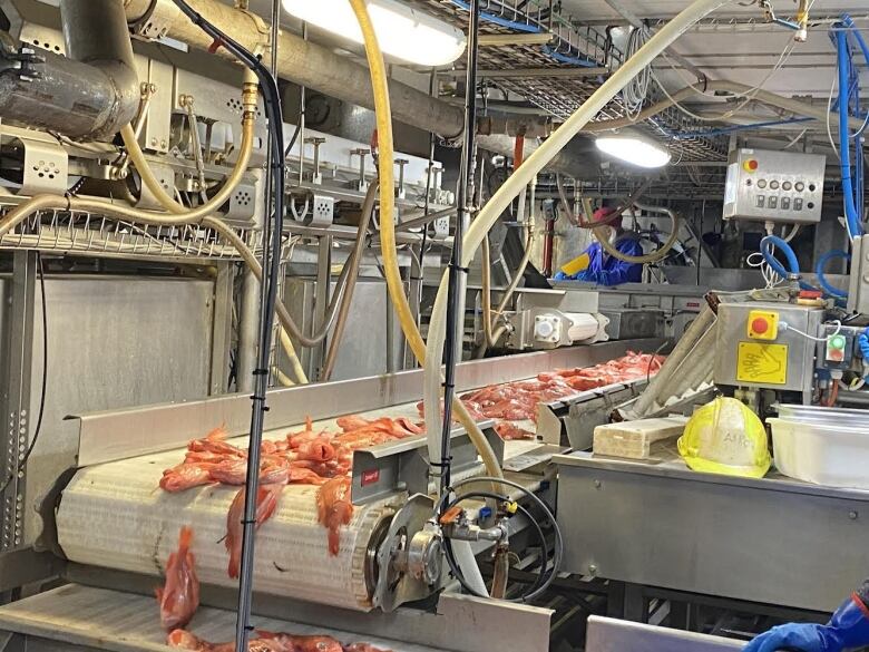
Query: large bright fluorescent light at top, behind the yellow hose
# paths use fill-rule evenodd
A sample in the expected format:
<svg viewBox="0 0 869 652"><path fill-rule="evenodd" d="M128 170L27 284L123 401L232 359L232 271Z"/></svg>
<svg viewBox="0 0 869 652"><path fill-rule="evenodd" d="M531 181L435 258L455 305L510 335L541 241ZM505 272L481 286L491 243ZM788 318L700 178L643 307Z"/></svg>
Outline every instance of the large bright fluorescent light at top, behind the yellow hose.
<svg viewBox="0 0 869 652"><path fill-rule="evenodd" d="M465 51L465 33L396 0L367 0L384 55L418 66L446 66ZM362 43L362 30L348 0L283 0L287 13Z"/></svg>

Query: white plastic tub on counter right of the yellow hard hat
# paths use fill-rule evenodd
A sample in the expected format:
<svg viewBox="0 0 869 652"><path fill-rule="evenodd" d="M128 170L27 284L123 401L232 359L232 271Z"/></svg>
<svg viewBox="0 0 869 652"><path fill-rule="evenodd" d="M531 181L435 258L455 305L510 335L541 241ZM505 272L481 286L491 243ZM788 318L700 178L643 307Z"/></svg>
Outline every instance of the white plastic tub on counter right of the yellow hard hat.
<svg viewBox="0 0 869 652"><path fill-rule="evenodd" d="M869 489L869 427L768 419L775 467L816 485Z"/></svg>

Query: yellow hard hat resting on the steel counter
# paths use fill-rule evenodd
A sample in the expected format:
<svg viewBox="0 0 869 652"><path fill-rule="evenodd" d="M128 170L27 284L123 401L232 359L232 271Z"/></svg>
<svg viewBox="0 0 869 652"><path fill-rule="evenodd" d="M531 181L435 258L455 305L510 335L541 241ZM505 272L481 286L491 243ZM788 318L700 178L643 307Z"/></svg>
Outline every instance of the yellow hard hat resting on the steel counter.
<svg viewBox="0 0 869 652"><path fill-rule="evenodd" d="M748 478L762 478L772 464L763 422L733 398L716 398L694 412L678 454L693 470Z"/></svg>

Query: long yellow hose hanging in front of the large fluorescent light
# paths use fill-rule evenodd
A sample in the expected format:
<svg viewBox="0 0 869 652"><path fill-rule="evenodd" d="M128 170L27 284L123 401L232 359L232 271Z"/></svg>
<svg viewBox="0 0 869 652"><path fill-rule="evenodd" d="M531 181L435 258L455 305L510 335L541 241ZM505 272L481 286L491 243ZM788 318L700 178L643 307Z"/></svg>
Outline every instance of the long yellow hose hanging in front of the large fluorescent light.
<svg viewBox="0 0 869 652"><path fill-rule="evenodd" d="M371 70L371 84L374 89L374 107L377 110L378 123L378 145L380 147L379 169L380 169L380 213L383 216L380 221L380 242L383 252L383 269L387 276L387 285L392 304L401 322L401 330L408 340L410 349L413 351L420 364L426 362L426 342L417 328L417 321L410 309L408 299L404 295L404 283L401 280L401 271L398 262L396 249L396 225L392 221L394 214L396 197L393 195L394 182L394 149L392 140L392 110L389 101L389 85L387 69L383 62L383 53L380 51L374 28L371 23L371 17L368 13L368 7L364 0L350 0L353 12L357 16L359 26L362 29L362 36L365 42L365 55ZM453 401L453 410L459 421L465 427L468 436L473 441L484 464L486 471L490 476L504 477L498 458L489 446L486 436L482 434L477 422L468 412L465 403L458 398Z"/></svg>

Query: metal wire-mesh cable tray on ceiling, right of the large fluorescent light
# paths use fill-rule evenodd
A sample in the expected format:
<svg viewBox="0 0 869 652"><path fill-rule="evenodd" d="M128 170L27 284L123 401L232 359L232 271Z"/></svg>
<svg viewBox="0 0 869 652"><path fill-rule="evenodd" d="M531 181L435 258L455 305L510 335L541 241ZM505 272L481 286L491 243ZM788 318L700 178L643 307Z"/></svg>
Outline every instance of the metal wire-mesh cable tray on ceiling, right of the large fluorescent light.
<svg viewBox="0 0 869 652"><path fill-rule="evenodd" d="M408 3L438 16L459 28L467 28L468 4L465 0L408 0ZM515 77L499 76L494 81L505 91L526 98L557 120L569 117L598 88L605 77L623 62L622 52L608 39L605 28L583 26L559 16L549 1L484 0L480 31L484 35L546 33L545 45L507 45L480 48L479 66L485 70L516 70ZM546 76L546 70L553 76ZM585 69L585 72L583 70ZM534 75L527 74L533 70ZM576 76L565 76L576 70ZM650 88L647 101L662 99L656 87ZM597 119L618 118L625 109L617 98ZM677 109L660 114L642 128L670 144L674 159L681 162L723 160L726 143L722 138L693 137L697 124Z"/></svg>

